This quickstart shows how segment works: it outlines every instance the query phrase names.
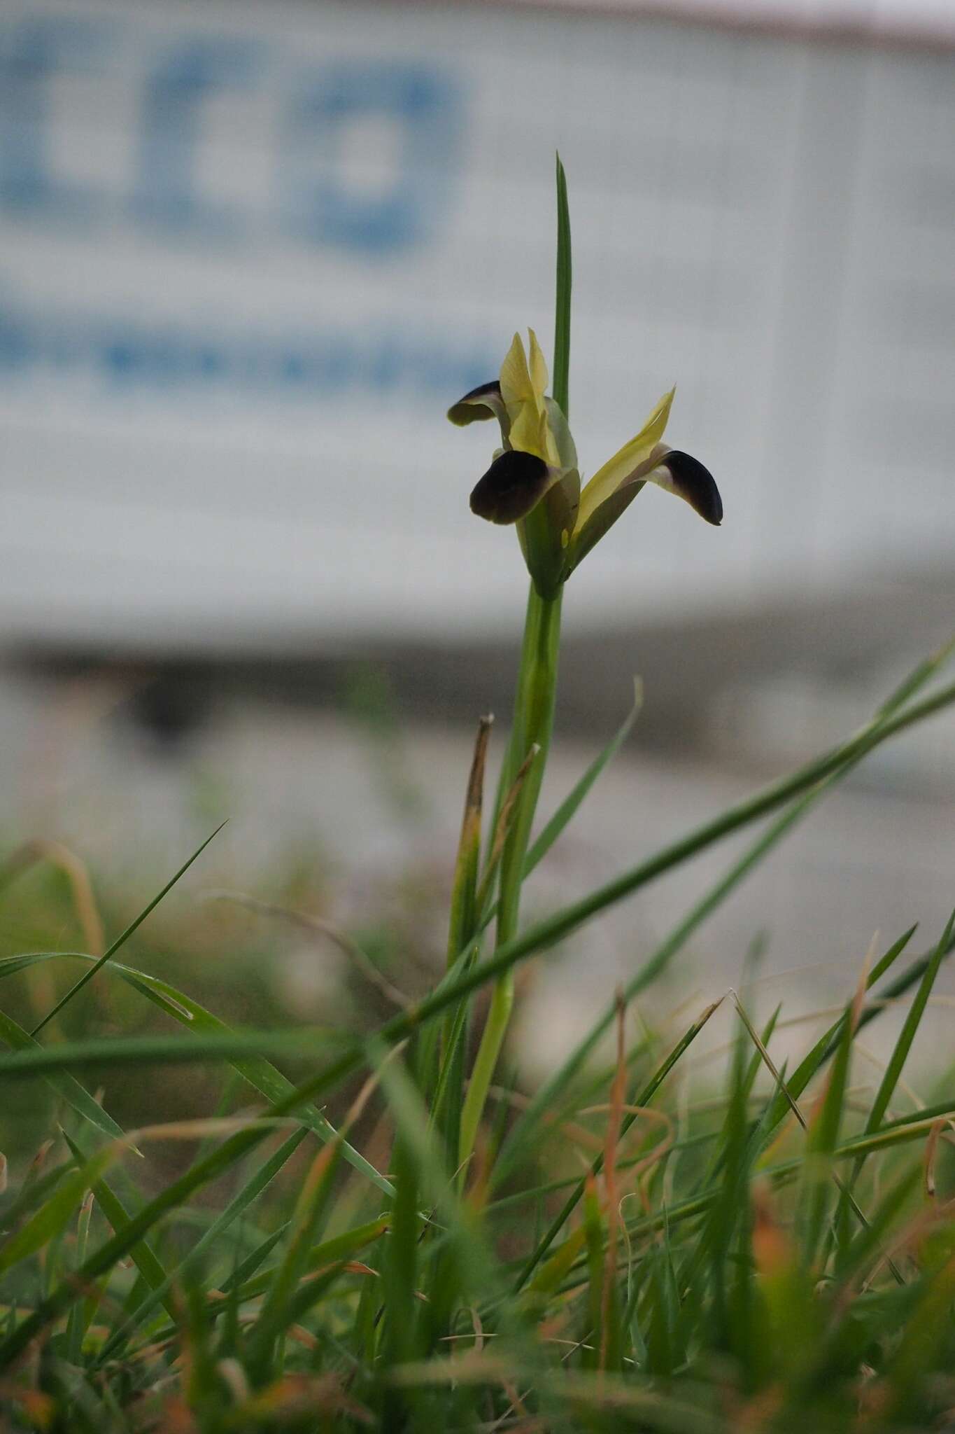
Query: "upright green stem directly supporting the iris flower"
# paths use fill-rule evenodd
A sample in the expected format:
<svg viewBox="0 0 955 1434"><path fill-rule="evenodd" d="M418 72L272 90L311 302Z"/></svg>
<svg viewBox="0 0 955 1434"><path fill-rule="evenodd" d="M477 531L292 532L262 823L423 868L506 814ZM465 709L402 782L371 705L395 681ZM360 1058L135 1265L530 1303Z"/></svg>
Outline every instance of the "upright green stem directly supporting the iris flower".
<svg viewBox="0 0 955 1434"><path fill-rule="evenodd" d="M563 588L554 598L543 598L531 584L524 622L524 645L514 703L514 727L508 746L508 773L504 787L517 774L528 751L537 744L534 759L518 797L514 825L501 856L501 886L497 912L495 949L504 946L517 932L521 902L521 875L530 843L537 797L540 794L547 751L554 727L554 698L557 695L557 658L560 652L560 608ZM460 1160L464 1163L474 1150L487 1093L494 1078L504 1035L514 1005L514 971L505 971L494 984L484 1034L478 1047L471 1081L461 1110Z"/></svg>

